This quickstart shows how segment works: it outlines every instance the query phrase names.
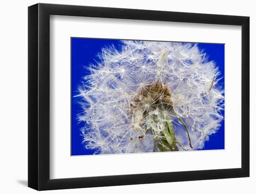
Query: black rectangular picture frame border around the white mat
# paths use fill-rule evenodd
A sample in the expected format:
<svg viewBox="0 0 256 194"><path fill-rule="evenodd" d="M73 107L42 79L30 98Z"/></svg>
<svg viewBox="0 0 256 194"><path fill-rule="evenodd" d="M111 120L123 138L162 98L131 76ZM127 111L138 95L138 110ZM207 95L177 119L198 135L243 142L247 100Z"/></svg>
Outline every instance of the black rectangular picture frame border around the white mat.
<svg viewBox="0 0 256 194"><path fill-rule="evenodd" d="M242 167L218 170L128 174L51 180L49 178L50 15L242 26ZM28 187L36 190L52 190L248 176L249 17L41 3L28 7Z"/></svg>

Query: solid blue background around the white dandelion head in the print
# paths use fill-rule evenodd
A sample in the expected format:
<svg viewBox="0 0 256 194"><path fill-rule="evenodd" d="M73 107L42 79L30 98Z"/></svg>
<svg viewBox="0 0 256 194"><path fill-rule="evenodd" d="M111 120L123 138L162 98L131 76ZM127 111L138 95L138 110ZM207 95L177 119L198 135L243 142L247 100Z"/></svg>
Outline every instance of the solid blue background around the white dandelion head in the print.
<svg viewBox="0 0 256 194"><path fill-rule="evenodd" d="M114 46L121 49L120 40L107 39L87 39L87 38L71 38L71 155L88 155L93 154L94 150L86 149L82 144L81 127L84 123L78 123L77 114L82 111L78 104L79 98L73 96L78 94L77 88L81 86L82 77L90 74L84 67L88 64L95 64L97 54L101 52L101 48L105 46ZM209 60L214 60L222 73L219 84L224 87L224 44L198 44L200 50L209 56ZM224 113L223 113L224 114ZM209 141L205 141L204 150L224 149L224 120L216 134L209 137Z"/></svg>

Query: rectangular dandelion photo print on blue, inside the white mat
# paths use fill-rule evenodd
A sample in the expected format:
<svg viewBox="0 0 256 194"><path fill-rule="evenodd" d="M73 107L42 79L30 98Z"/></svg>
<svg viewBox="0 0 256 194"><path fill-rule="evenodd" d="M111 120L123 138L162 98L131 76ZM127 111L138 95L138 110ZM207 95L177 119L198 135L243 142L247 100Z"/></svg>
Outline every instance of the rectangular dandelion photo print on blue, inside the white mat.
<svg viewBox="0 0 256 194"><path fill-rule="evenodd" d="M71 155L224 149L224 44L71 38Z"/></svg>

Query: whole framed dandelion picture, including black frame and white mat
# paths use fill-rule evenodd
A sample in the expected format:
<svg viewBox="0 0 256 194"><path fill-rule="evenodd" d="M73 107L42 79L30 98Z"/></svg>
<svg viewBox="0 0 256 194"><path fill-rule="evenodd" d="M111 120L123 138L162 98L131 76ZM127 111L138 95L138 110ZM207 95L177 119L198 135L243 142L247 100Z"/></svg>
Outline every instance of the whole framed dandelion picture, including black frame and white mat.
<svg viewBox="0 0 256 194"><path fill-rule="evenodd" d="M28 187L249 176L249 17L28 7Z"/></svg>

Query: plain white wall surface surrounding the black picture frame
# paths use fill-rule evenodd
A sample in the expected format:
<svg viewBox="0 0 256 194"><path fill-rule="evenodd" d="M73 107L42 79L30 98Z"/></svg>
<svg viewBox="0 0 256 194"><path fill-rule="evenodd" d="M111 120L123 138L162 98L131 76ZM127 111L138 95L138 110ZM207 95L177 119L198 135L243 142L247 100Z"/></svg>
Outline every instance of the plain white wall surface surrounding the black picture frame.
<svg viewBox="0 0 256 194"><path fill-rule="evenodd" d="M177 12L214 13L243 15L250 17L250 98L256 99L256 68L252 55L256 39L252 37L256 27L256 12L251 0L41 0L41 3L74 4L99 7L122 7ZM0 11L0 191L8 193L36 193L27 187L27 7L38 3L36 0L3 1ZM235 98L236 96L234 96ZM147 184L119 187L98 187L46 191L44 193L176 193L216 194L255 193L256 182L256 136L254 118L256 102L250 104L250 177L210 181L188 181L175 183ZM188 164L189 165L189 164Z"/></svg>

